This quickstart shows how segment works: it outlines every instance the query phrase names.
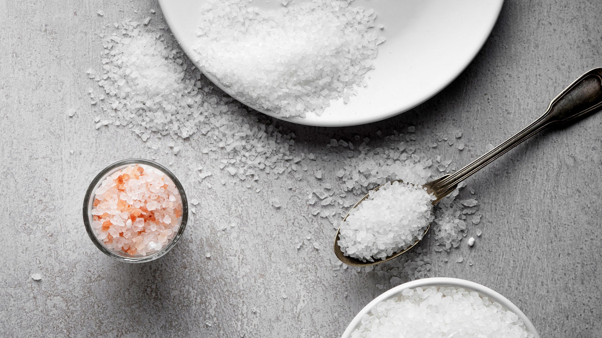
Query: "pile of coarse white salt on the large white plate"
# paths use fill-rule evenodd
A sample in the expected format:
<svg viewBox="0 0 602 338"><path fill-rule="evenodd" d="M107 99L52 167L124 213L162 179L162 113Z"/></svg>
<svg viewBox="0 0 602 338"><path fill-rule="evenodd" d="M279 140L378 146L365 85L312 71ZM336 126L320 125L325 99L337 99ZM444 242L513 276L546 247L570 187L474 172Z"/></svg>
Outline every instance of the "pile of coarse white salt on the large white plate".
<svg viewBox="0 0 602 338"><path fill-rule="evenodd" d="M259 10L243 0L202 5L196 57L244 103L282 117L320 115L366 86L377 45L374 11L352 0L312 0ZM245 4L247 3L247 5Z"/></svg>

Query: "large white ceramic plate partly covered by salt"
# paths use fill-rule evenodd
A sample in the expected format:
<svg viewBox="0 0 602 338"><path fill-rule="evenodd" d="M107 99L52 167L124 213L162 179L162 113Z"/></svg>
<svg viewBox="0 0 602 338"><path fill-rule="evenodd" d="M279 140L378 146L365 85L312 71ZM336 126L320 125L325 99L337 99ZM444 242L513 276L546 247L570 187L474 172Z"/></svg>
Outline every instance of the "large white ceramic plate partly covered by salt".
<svg viewBox="0 0 602 338"><path fill-rule="evenodd" d="M173 35L191 60L195 60L194 32L199 22L199 7L205 1L159 0ZM320 116L310 113L305 118L283 119L312 126L351 126L414 108L442 90L468 66L489 36L502 3L503 0L353 1L353 6L374 8L377 18L372 29L385 26L379 35L386 41L379 46L374 60L376 69L368 72L368 87L359 88L359 93L347 104L343 99L331 102ZM249 5L281 6L278 0L255 0ZM216 78L207 77L231 94Z"/></svg>

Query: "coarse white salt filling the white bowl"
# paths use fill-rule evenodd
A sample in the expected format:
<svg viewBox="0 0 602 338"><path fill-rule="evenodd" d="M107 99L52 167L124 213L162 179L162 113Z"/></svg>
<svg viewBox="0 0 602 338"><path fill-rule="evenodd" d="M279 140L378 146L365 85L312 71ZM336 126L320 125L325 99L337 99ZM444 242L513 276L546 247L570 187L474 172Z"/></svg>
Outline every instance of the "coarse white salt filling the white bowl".
<svg viewBox="0 0 602 338"><path fill-rule="evenodd" d="M514 312L455 287L405 289L364 315L352 338L533 338Z"/></svg>

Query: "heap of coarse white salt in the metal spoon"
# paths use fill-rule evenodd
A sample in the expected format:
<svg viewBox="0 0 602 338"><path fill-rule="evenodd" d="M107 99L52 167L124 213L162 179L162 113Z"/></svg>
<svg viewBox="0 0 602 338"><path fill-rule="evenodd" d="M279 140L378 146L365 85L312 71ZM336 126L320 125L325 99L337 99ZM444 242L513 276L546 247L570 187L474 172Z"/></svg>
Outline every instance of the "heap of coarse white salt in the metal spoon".
<svg viewBox="0 0 602 338"><path fill-rule="evenodd" d="M420 185L384 185L353 209L341 224L338 244L346 256L374 262L422 239L433 221L435 196Z"/></svg>

